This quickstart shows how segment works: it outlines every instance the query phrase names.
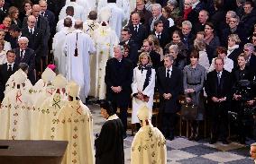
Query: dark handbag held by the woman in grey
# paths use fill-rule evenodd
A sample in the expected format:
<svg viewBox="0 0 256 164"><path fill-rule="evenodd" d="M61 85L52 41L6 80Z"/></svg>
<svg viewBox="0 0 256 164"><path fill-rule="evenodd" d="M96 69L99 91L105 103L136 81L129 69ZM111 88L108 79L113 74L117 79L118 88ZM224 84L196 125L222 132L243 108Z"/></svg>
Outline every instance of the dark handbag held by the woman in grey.
<svg viewBox="0 0 256 164"><path fill-rule="evenodd" d="M180 117L185 120L195 120L198 115L198 107L193 103L181 103Z"/></svg>

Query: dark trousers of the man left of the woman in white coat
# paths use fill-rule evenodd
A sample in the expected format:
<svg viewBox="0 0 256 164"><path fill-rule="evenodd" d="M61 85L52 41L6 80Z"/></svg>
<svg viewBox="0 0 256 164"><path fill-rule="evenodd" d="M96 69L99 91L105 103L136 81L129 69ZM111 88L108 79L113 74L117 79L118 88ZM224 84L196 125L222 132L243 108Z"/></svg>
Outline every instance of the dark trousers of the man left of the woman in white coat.
<svg viewBox="0 0 256 164"><path fill-rule="evenodd" d="M128 105L118 105L115 102L112 102L112 106L114 108L114 113L116 113L117 108L120 109L120 113L118 115L118 117L121 119L122 123L123 123L123 129L124 129L124 134L126 134L127 131L127 109L128 109Z"/></svg>

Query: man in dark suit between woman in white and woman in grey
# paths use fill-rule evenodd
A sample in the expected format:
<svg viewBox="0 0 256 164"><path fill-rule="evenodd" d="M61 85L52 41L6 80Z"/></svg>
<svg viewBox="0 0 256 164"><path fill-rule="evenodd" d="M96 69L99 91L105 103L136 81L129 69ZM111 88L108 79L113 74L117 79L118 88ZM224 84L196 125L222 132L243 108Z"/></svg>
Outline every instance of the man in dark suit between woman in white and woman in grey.
<svg viewBox="0 0 256 164"><path fill-rule="evenodd" d="M164 56L164 66L157 72L160 92L160 130L169 140L174 139L175 117L178 111L178 94L182 90L182 73L173 66L173 56Z"/></svg>

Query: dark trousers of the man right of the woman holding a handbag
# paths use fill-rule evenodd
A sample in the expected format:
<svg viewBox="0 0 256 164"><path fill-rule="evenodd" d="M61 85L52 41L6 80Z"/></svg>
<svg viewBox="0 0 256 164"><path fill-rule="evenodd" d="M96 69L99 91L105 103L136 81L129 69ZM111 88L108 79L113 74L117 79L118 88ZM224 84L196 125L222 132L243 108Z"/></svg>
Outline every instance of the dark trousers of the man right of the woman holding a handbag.
<svg viewBox="0 0 256 164"><path fill-rule="evenodd" d="M213 103L210 111L212 138L226 139L228 132L228 110L226 103Z"/></svg>

